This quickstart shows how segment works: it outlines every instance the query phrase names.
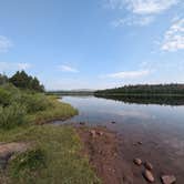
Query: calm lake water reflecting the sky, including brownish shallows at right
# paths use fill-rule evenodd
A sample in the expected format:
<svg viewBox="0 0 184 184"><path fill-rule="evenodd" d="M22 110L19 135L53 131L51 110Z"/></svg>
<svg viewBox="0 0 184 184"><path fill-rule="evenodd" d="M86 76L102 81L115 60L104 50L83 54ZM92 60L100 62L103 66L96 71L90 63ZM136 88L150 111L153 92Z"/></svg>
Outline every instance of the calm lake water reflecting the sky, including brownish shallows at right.
<svg viewBox="0 0 184 184"><path fill-rule="evenodd" d="M157 170L175 172L184 178L184 105L136 104L95 96L62 96L62 101L76 108L79 115L57 124L86 122L106 126L123 136L127 160L144 156L162 164ZM142 141L144 149L130 146L136 141Z"/></svg>

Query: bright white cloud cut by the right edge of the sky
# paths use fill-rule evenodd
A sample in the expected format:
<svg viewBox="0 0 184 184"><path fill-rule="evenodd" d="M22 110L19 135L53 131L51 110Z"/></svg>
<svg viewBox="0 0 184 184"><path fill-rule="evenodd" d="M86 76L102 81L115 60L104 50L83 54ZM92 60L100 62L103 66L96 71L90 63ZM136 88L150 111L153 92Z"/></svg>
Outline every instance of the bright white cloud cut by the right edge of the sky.
<svg viewBox="0 0 184 184"><path fill-rule="evenodd" d="M162 50L177 51L184 49L184 18L175 21L164 35Z"/></svg>

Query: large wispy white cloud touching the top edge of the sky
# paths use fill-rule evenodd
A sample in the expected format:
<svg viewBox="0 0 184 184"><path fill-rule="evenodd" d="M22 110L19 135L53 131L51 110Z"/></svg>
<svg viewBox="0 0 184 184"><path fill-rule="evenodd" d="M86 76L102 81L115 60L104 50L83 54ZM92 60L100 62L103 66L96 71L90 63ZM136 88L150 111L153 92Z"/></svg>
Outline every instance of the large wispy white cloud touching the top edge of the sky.
<svg viewBox="0 0 184 184"><path fill-rule="evenodd" d="M117 19L112 24L114 27L127 25L147 25L155 20L155 17L181 0L108 0L108 7L113 10L126 9L130 14L126 18Z"/></svg>

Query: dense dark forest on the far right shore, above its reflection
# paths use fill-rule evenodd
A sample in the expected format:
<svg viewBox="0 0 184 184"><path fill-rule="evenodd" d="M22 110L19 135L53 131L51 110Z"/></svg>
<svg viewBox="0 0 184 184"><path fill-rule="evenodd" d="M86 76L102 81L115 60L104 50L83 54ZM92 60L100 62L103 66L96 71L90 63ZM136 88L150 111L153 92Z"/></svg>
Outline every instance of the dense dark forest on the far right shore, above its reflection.
<svg viewBox="0 0 184 184"><path fill-rule="evenodd" d="M95 95L184 95L184 84L140 84L96 91Z"/></svg>

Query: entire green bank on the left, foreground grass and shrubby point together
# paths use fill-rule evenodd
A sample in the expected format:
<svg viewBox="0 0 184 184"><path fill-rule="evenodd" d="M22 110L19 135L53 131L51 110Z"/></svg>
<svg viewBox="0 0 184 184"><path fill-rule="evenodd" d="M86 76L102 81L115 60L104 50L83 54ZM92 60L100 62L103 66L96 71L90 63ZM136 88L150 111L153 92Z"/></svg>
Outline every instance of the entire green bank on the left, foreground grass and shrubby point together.
<svg viewBox="0 0 184 184"><path fill-rule="evenodd" d="M0 142L28 142L30 149L9 160L0 170L2 184L93 184L100 183L82 144L71 126L43 124L55 119L68 119L78 111L59 102L12 85L0 88Z"/></svg>

